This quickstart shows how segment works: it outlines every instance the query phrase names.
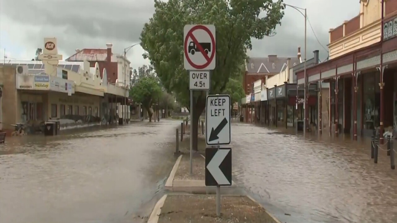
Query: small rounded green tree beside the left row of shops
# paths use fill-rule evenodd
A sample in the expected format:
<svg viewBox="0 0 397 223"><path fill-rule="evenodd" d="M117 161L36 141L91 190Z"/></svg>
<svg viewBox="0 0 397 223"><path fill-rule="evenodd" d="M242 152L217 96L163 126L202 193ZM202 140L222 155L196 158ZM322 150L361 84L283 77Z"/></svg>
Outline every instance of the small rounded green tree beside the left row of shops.
<svg viewBox="0 0 397 223"><path fill-rule="evenodd" d="M153 102L156 102L161 96L162 89L158 77L156 77L153 70L147 71L147 69L141 69L141 67L138 70L138 77L135 79L133 85L131 85L129 94L135 102L141 103L146 109L149 115L149 121L151 122L153 112L150 108L152 108Z"/></svg>

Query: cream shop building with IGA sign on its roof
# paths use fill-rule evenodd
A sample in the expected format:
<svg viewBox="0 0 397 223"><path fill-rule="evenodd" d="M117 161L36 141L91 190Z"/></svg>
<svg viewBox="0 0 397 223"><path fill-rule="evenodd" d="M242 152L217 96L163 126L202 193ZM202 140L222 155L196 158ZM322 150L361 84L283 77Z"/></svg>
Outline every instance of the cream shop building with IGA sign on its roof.
<svg viewBox="0 0 397 223"><path fill-rule="evenodd" d="M86 122L121 117L111 108L123 103L128 94L123 87L108 83L106 68L101 71L98 63L91 67L88 61L60 61L56 38L44 38L43 49L41 61L13 60L0 65L3 131L14 131L17 123L29 125L33 132L49 120L60 120L62 126L77 116L86 117Z"/></svg>

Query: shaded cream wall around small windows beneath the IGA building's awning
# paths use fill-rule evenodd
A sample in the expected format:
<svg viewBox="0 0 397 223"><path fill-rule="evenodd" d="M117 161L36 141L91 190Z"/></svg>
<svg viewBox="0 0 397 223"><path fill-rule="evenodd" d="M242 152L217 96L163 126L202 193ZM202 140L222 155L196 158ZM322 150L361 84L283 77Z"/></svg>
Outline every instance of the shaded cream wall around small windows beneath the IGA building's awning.
<svg viewBox="0 0 397 223"><path fill-rule="evenodd" d="M49 117L51 116L51 104L56 104L57 105L57 117L60 118L60 107L61 104L65 105L65 113L67 114L67 106L72 105L72 112L73 114L75 113L75 106L79 106L79 115L83 115L83 106L87 106L87 114L89 113L89 107L91 106L91 110L94 116L96 116L95 113L95 108L98 108L98 113L100 113L100 102L101 102L100 96L95 96L95 95L77 95L73 94L72 96L67 96L67 94L64 93L57 93L57 92L51 92L48 94L48 108L47 108L47 113Z"/></svg>

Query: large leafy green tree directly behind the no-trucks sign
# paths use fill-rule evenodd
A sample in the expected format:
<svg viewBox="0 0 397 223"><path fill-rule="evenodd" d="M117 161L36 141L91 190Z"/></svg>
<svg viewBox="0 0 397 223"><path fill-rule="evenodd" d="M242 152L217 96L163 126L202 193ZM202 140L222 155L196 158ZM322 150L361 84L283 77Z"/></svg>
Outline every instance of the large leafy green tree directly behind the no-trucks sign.
<svg viewBox="0 0 397 223"><path fill-rule="evenodd" d="M211 72L210 94L225 91L229 78L239 72L252 49L251 38L274 35L284 15L282 0L161 0L141 33L141 46L168 92L189 108L189 79L183 67L183 27L214 24L216 68ZM262 17L260 13L265 15ZM206 93L195 91L192 111L193 149L197 150L198 119L205 108Z"/></svg>

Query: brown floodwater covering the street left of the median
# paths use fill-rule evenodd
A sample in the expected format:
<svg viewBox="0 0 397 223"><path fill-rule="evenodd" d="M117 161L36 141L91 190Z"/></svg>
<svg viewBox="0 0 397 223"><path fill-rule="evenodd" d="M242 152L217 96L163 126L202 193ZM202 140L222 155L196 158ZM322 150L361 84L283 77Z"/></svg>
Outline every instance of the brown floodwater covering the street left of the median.
<svg viewBox="0 0 397 223"><path fill-rule="evenodd" d="M1 223L114 223L161 193L180 121L133 122L0 145Z"/></svg>

